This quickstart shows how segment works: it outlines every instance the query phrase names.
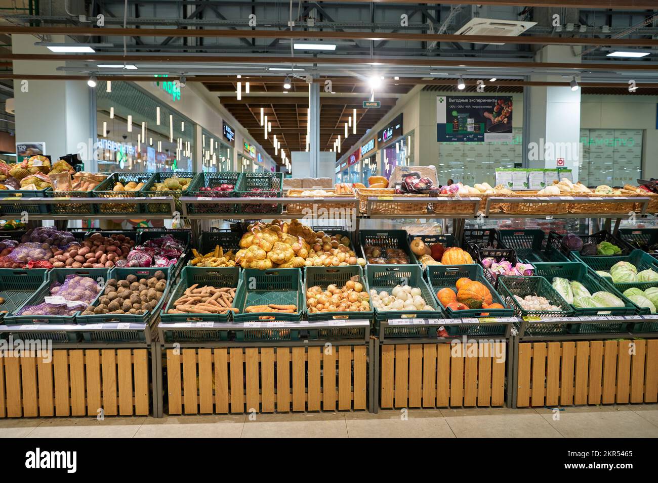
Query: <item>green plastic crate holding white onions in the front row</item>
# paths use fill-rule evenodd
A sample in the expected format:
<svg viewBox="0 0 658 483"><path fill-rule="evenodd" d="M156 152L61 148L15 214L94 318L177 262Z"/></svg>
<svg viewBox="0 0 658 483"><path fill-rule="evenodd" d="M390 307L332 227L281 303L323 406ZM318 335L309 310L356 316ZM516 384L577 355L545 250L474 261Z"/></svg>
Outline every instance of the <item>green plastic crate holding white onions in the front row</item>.
<svg viewBox="0 0 658 483"><path fill-rule="evenodd" d="M417 319L443 318L432 289L423 279L423 271L420 265L390 265L374 264L366 266L366 283L368 290L376 290L379 294L386 292L392 294L396 285L409 285L409 287L420 288L420 296L425 300L432 310L380 310L374 307L375 320L401 319L415 317ZM374 306L374 304L373 304Z"/></svg>

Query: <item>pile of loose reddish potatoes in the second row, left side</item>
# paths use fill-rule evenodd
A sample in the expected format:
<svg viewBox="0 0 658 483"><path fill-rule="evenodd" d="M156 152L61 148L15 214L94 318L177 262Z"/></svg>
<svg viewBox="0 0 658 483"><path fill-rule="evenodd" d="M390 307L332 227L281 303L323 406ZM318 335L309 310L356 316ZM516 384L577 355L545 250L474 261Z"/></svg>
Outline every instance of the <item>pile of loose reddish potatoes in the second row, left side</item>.
<svg viewBox="0 0 658 483"><path fill-rule="evenodd" d="M49 262L55 268L111 268L117 260L125 259L134 245L126 235L103 237L94 233L80 245L56 250Z"/></svg>

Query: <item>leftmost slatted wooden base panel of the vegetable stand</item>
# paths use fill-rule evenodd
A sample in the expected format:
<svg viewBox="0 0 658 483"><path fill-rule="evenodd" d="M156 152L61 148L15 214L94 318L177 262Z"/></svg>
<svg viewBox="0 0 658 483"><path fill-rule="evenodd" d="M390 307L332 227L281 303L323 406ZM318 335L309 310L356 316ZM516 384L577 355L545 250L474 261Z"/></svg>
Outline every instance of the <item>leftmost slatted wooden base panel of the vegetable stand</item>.
<svg viewBox="0 0 658 483"><path fill-rule="evenodd" d="M146 349L0 357L0 417L149 414Z"/></svg>

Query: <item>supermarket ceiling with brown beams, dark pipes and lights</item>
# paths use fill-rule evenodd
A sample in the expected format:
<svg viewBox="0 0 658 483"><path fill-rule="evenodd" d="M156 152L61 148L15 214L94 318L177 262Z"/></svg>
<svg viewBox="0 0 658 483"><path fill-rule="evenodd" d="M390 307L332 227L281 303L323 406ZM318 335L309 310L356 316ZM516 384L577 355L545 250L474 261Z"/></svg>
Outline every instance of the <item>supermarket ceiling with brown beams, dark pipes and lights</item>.
<svg viewBox="0 0 658 483"><path fill-rule="evenodd" d="M322 85L332 80L320 94L320 141L327 150L354 108L357 133L349 129L343 146L353 145L417 85L456 90L460 76L467 92L475 90L478 78L497 78L499 92L520 92L537 85L533 82L568 85L572 76L583 94L658 92L656 0L20 3L0 14L6 44L17 33L46 44L53 35L66 34L80 45L93 45L93 52L44 48L43 54L19 55L0 46L0 91L2 85L11 89L11 62L20 59L57 58L65 62L61 74L70 78L183 74L188 83L201 83L218 96L255 139L263 139L263 108L286 152L305 149L309 78ZM542 61L538 51L546 45L566 46L573 62ZM624 55L611 56L615 51ZM101 67L124 62L135 68ZM285 76L289 89L283 87ZM382 107L362 108L372 95L369 81L382 77L376 91ZM627 88L631 79L638 85L634 93ZM238 81L250 88L240 101ZM273 145L261 143L274 157Z"/></svg>

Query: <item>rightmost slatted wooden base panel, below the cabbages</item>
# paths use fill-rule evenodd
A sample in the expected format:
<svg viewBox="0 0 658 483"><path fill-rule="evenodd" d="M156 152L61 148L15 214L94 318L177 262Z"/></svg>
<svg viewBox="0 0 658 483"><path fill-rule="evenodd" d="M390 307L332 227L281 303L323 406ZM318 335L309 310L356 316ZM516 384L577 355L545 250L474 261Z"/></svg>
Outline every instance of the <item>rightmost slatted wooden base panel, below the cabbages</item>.
<svg viewBox="0 0 658 483"><path fill-rule="evenodd" d="M658 340L521 342L517 407L658 400Z"/></svg>

